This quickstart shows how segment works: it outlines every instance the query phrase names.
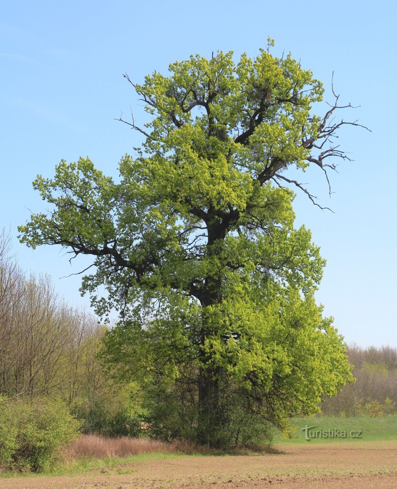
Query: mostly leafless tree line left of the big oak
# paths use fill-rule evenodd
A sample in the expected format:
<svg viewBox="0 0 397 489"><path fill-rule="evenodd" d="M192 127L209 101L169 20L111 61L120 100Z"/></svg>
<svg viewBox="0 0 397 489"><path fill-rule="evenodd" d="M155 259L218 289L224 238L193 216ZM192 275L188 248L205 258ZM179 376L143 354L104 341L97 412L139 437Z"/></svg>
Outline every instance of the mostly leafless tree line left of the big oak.
<svg viewBox="0 0 397 489"><path fill-rule="evenodd" d="M98 359L105 328L58 296L47 275L27 274L0 232L0 399L62 400L86 432L129 434L131 388Z"/></svg>

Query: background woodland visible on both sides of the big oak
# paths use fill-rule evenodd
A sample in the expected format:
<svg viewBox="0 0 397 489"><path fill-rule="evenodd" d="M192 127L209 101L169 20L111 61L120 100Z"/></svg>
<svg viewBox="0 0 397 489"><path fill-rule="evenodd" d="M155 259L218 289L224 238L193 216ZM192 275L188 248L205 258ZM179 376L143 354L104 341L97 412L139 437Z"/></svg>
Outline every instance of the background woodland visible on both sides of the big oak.
<svg viewBox="0 0 397 489"><path fill-rule="evenodd" d="M106 327L59 297L47 275L28 274L0 234L0 398L50 396L65 403L83 431L134 435L145 426L143 393L120 384L98 355ZM397 348L348 347L356 381L321 403L318 416L397 416ZM299 415L299 413L296 413Z"/></svg>

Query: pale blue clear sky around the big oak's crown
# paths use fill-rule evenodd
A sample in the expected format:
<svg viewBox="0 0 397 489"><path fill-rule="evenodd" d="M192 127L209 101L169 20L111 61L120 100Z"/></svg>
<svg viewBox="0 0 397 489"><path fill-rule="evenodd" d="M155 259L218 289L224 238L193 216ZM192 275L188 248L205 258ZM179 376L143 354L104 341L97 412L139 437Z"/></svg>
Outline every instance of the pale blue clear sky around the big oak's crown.
<svg viewBox="0 0 397 489"><path fill-rule="evenodd" d="M113 120L120 111L127 117L131 104L145 122L124 71L139 83L191 53L255 56L271 36L272 52L291 51L324 82L330 101L333 71L341 102L361 106L341 115L372 130L341 131L354 161L331 175L331 202L321 172L299 178L334 214L302 195L295 210L328 260L317 299L346 341L396 346L396 14L391 1L3 0L0 228L11 226L21 265L51 274L69 301L88 302L80 277L60 278L86 262L70 266L48 246L32 252L16 228L28 209L44 210L31 186L37 173L52 177L61 158L89 156L116 177L120 157L140 144L138 133Z"/></svg>

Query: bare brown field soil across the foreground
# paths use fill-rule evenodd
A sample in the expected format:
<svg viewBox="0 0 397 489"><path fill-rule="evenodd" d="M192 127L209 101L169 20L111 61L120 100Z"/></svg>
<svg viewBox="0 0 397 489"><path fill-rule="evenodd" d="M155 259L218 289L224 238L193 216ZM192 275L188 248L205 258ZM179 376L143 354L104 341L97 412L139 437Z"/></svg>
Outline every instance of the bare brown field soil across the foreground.
<svg viewBox="0 0 397 489"><path fill-rule="evenodd" d="M0 489L397 488L397 442L280 447L258 456L186 456L95 469L89 475L0 479Z"/></svg>

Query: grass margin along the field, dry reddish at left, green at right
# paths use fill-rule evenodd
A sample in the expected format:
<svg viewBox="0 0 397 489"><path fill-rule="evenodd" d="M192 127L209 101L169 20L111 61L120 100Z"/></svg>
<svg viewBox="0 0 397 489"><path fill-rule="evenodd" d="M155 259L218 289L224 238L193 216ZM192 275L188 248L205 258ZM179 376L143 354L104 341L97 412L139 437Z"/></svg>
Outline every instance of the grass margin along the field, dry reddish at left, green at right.
<svg viewBox="0 0 397 489"><path fill-rule="evenodd" d="M277 432L273 438L275 452L277 445L289 444L318 444L345 442L382 442L397 440L397 418L296 418L291 420L296 431L294 438L283 439ZM313 430L362 431L362 437L318 437L305 440L306 425L315 427ZM82 473L95 475L99 473L124 474L134 472L136 464L150 460L172 460L180 457L200 455L249 455L249 450L232 450L220 452L209 450L206 446L198 446L188 441L163 443L145 438L105 438L99 435L82 435L73 445L66 448L60 457L60 462L53 470L45 475L78 475ZM32 476L36 474L20 472L1 472L0 477ZM40 475L40 474L37 474Z"/></svg>

